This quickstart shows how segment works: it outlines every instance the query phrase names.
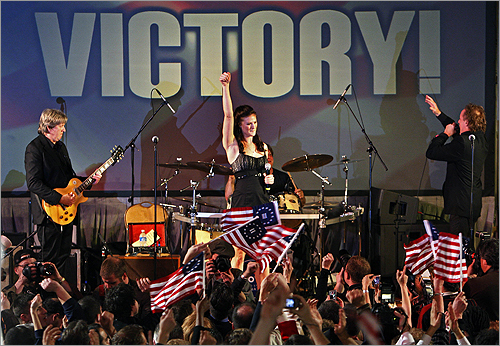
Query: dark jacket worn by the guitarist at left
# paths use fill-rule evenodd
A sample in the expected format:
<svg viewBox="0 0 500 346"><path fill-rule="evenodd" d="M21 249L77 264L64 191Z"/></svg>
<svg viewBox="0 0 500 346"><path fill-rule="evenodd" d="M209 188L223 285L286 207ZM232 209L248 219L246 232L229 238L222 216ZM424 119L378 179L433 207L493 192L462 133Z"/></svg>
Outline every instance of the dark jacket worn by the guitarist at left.
<svg viewBox="0 0 500 346"><path fill-rule="evenodd" d="M33 222L41 224L46 214L37 197L50 204L59 203L61 194L53 189L65 188L76 175L66 145L61 141L53 144L41 134L26 147L24 167L26 183L31 193Z"/></svg>

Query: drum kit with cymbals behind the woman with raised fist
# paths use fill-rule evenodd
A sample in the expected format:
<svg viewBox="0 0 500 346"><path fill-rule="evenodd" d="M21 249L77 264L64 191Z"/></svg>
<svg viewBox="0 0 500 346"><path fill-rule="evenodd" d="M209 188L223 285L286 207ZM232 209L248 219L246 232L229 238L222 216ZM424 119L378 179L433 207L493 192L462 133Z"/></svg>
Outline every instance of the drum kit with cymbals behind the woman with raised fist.
<svg viewBox="0 0 500 346"><path fill-rule="evenodd" d="M294 194L289 192L282 192L274 196L274 200L277 201L280 211L280 218L283 220L283 224L290 228L297 228L303 220L318 220L319 227L325 228L327 224L343 222L347 220L355 220L360 214L362 214L362 209L347 206L347 188L348 188L348 165L353 162L361 161L361 160L349 160L346 156L342 156L342 160L338 163L334 163L333 165L344 165L344 172L346 174L346 185L345 185L345 195L343 203L343 213L338 218L326 220L326 209L330 207L338 207L338 203L330 203L326 202L324 197L325 185L331 185L328 181L328 177L321 176L318 172L315 171L316 168L325 166L333 161L333 157L327 154L314 154L314 155L304 155L301 157L294 158L285 164L282 165L282 169L286 172L311 172L316 177L318 177L321 181L321 191L319 193L320 200L317 202L307 203L302 205L300 198ZM172 168L175 169L174 173L167 179L162 179L160 187L165 185L165 197L167 197L168 193L168 182L178 175L181 170L197 170L207 173L205 177L203 177L199 181L190 181L190 185L181 189L180 192L186 191L188 189L192 189L192 198L184 198L177 197L176 199L181 200L183 202L190 202L189 212L185 213L183 206L176 206L172 204L163 204L159 203L164 209L169 210L169 214L175 220L179 220L182 222L189 223L191 226L191 244L196 244L201 241L207 242L210 239L214 239L215 237L222 234L222 230L220 229L217 223L214 224L206 224L200 223L198 218L220 218L222 213L210 213L210 212L198 212L198 205L203 205L207 207L213 207L215 209L222 209L218 206L211 205L200 200L200 195L196 194L196 190L201 182L204 180L212 178L214 175L232 175L233 171L230 167L223 166L215 163L215 160L211 162L203 162L203 161L192 161L183 163L178 159L177 162L174 163L160 163L159 167L164 168ZM289 173L290 175L290 173ZM292 179L293 181L293 179ZM175 198L175 197L174 197ZM173 212L172 209L178 207L179 212ZM317 213L304 213L304 209L317 209ZM189 216L187 216L189 215ZM184 240L181 240L183 243Z"/></svg>

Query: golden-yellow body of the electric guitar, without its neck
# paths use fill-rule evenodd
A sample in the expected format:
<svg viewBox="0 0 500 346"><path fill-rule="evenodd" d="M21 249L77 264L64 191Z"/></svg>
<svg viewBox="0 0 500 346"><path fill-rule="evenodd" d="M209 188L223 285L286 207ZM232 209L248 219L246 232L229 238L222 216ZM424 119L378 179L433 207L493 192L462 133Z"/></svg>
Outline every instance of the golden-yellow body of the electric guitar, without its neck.
<svg viewBox="0 0 500 346"><path fill-rule="evenodd" d="M59 192L61 195L66 195L70 192L73 192L75 194L75 203L73 203L69 207L65 205L63 206L61 204L52 205L48 204L45 201L42 201L43 210L45 210L52 221L59 225L67 225L73 222L76 217L78 205L88 200L88 197L85 197L83 195L83 192L79 193L76 189L81 184L82 182L79 179L73 178L69 181L67 187L54 189L54 191Z"/></svg>

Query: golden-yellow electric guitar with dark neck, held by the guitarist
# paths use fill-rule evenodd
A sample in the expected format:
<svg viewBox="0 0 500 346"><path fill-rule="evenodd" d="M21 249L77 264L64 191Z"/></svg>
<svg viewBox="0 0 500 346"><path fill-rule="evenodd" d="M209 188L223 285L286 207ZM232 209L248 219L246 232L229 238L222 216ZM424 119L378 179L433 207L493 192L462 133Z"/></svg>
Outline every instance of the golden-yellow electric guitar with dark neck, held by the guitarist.
<svg viewBox="0 0 500 346"><path fill-rule="evenodd" d="M56 188L54 191L59 192L61 195L66 195L70 192L75 194L75 202L66 206L64 204L49 204L42 200L43 210L47 213L47 215L59 225L67 225L75 219L76 211L78 208L78 204L86 202L88 197L83 195L83 191L86 190L92 183L94 179L92 178L96 173L104 173L108 167L113 166L115 163L120 161L123 158L123 149L120 146L115 146L113 150L111 150L111 157L104 162L98 169L94 171L87 179L83 181L83 183L78 178L73 178L69 181L68 186L65 188Z"/></svg>

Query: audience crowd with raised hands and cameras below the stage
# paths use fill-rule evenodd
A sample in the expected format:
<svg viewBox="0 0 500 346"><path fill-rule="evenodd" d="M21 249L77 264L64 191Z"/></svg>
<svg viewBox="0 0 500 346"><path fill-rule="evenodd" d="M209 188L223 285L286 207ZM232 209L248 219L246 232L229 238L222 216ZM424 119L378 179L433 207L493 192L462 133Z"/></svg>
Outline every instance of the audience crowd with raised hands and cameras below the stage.
<svg viewBox="0 0 500 346"><path fill-rule="evenodd" d="M290 261L265 276L254 290L250 278L259 265L248 261L243 271L231 268L235 252L224 241L193 245L183 265L202 251L206 287L158 313L151 311L150 279L131 279L122 259L107 257L100 268L103 284L83 296L53 263L44 262L51 270L43 272L36 253L19 251L15 255L19 280L12 294L2 292L3 341L7 345L499 342L497 239L481 241L462 290L458 283L433 277L432 268L427 283L406 267L392 278L378 280L367 259L347 253L322 258L314 292L293 284ZM329 276L335 279L329 281Z"/></svg>

